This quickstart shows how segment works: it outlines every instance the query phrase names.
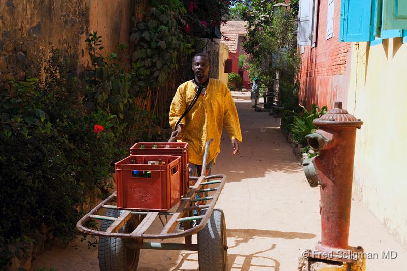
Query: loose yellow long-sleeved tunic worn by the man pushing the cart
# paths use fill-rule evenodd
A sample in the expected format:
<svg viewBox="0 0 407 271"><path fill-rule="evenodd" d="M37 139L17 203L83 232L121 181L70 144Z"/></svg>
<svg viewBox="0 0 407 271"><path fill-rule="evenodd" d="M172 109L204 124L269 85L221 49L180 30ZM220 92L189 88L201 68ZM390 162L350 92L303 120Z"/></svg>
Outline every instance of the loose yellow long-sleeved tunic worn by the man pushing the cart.
<svg viewBox="0 0 407 271"><path fill-rule="evenodd" d="M192 102L196 92L196 85L192 80L178 87L169 111L169 124L172 129L175 129L178 119ZM200 95L180 123L185 126L178 141L189 143L189 162L193 164L202 165L205 144L211 138L213 141L209 145L207 163L218 156L223 124L230 139L236 138L242 142L235 102L227 86L217 79L209 80L205 94Z"/></svg>

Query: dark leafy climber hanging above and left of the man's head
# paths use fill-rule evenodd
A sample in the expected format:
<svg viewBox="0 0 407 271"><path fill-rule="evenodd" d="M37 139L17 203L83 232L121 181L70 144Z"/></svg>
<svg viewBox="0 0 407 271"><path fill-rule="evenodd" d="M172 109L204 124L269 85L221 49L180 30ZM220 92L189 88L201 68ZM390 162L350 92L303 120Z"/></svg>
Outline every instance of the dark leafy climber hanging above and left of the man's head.
<svg viewBox="0 0 407 271"><path fill-rule="evenodd" d="M179 56L192 54L198 44L195 37L206 37L210 27L220 26L232 2L152 1L142 20L133 18L130 35L132 60L144 71L139 84L157 88L167 83L179 68Z"/></svg>

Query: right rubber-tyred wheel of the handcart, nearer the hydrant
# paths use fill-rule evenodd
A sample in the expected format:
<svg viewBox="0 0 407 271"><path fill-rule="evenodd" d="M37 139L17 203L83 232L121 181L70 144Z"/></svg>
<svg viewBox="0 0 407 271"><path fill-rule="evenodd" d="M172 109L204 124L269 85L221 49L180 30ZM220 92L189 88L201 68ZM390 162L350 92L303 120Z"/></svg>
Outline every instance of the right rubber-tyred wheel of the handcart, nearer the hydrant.
<svg viewBox="0 0 407 271"><path fill-rule="evenodd" d="M205 213L201 210L199 214ZM198 262L200 271L227 269L226 223L221 209L214 209L205 228L198 231Z"/></svg>

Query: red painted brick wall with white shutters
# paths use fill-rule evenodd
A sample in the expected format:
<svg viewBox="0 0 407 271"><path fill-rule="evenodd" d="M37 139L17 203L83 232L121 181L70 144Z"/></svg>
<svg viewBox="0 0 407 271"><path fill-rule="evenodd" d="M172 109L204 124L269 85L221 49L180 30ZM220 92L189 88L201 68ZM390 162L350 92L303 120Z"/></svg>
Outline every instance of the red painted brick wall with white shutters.
<svg viewBox="0 0 407 271"><path fill-rule="evenodd" d="M326 40L327 1L319 2L316 46L305 46L301 54L299 71L300 104L310 109L313 103L332 108L342 101L347 108L347 91L350 78L351 43L339 42L340 1L335 1L332 38ZM300 50L300 48L299 48Z"/></svg>

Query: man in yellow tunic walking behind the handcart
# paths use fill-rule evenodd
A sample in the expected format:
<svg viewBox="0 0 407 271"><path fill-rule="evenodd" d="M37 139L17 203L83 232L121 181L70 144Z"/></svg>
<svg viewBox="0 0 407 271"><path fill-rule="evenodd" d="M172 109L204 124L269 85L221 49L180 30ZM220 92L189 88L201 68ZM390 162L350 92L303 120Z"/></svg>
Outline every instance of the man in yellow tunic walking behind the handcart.
<svg viewBox="0 0 407 271"><path fill-rule="evenodd" d="M230 91L222 81L209 78L210 68L208 55L198 53L192 58L195 79L178 87L169 112L169 124L174 130L171 136L177 137L180 142L189 143L190 175L194 176L200 171L199 166L202 165L205 144L213 138L213 142L209 145L206 168L207 175L210 174L212 163L220 152L223 124L231 139L232 154L239 152L239 143L242 142L239 117ZM175 127L199 87L202 87L202 92L198 100Z"/></svg>

